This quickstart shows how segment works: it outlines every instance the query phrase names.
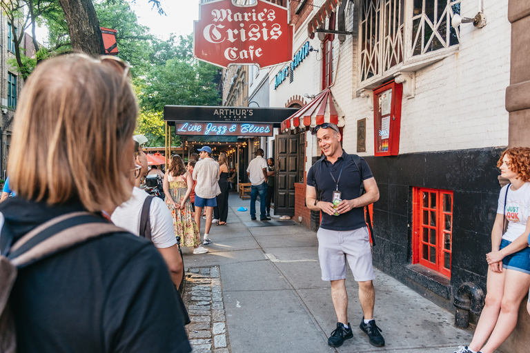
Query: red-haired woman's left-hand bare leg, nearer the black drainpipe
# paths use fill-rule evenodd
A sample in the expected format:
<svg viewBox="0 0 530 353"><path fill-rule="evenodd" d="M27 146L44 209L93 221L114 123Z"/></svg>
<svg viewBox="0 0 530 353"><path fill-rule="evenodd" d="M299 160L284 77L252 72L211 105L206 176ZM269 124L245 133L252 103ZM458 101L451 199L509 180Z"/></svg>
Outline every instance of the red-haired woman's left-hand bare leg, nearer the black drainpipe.
<svg viewBox="0 0 530 353"><path fill-rule="evenodd" d="M480 314L477 327L475 328L473 340L469 344L469 348L475 352L480 351L482 345L487 341L499 317L500 303L502 301L502 294L504 294L504 278L506 271L507 270L504 268L500 273L488 269L488 277L486 281L488 294L486 295L482 314Z"/></svg>

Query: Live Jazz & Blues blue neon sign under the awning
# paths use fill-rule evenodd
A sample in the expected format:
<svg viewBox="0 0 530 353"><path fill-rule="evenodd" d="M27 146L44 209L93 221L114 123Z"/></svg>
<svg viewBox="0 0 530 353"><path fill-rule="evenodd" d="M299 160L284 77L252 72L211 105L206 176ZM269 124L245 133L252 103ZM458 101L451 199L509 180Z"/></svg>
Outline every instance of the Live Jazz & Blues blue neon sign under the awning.
<svg viewBox="0 0 530 353"><path fill-rule="evenodd" d="M177 134L202 136L273 136L273 125L262 123L196 123L175 124Z"/></svg>

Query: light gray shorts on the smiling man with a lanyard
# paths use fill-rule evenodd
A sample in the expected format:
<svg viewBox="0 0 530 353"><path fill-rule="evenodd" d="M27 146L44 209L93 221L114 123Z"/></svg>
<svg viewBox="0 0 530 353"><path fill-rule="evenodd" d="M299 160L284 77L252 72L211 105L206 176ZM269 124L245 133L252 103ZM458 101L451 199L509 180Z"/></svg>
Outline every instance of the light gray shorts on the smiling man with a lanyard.
<svg viewBox="0 0 530 353"><path fill-rule="evenodd" d="M317 237L322 281L346 279L346 259L355 281L371 281L375 278L366 227L344 232L320 228Z"/></svg>

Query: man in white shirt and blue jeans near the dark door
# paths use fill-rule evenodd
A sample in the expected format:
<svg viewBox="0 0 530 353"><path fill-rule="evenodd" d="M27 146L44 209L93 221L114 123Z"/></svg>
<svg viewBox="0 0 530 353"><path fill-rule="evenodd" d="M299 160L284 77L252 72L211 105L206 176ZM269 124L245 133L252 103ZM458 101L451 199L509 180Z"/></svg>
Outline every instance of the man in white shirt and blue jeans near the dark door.
<svg viewBox="0 0 530 353"><path fill-rule="evenodd" d="M267 161L263 158L264 152L261 148L256 152L256 158L248 163L246 174L251 179L251 219L256 220L256 199L259 193L259 220L271 221L267 216Z"/></svg>

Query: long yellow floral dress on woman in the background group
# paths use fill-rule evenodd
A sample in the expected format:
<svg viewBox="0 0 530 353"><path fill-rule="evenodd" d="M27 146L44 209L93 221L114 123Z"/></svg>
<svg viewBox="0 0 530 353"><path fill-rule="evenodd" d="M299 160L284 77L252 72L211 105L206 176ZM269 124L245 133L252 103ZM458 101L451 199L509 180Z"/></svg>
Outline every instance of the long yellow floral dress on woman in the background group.
<svg viewBox="0 0 530 353"><path fill-rule="evenodd" d="M184 178L184 177L183 177ZM176 203L182 203L182 199L186 196L188 191L188 183L186 181L173 181L173 178L168 174L169 193ZM195 219L193 219L193 209L191 208L190 198L186 199L184 208L175 209L173 203L166 198L166 205L173 216L173 228L175 234L180 236L181 246L197 246L201 243L199 228Z"/></svg>

